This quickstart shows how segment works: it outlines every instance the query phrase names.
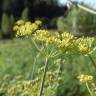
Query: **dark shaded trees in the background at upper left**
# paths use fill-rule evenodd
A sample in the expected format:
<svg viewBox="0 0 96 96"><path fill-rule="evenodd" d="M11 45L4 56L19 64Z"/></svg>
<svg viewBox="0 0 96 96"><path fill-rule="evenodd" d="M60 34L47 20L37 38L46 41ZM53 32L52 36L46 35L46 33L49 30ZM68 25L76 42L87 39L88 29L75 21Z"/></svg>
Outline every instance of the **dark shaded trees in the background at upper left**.
<svg viewBox="0 0 96 96"><path fill-rule="evenodd" d="M42 19L50 22L64 14L67 7L60 7L57 0L0 0L0 36L13 37L12 27L18 19Z"/></svg>

